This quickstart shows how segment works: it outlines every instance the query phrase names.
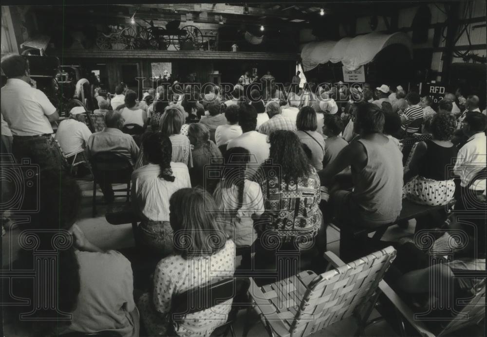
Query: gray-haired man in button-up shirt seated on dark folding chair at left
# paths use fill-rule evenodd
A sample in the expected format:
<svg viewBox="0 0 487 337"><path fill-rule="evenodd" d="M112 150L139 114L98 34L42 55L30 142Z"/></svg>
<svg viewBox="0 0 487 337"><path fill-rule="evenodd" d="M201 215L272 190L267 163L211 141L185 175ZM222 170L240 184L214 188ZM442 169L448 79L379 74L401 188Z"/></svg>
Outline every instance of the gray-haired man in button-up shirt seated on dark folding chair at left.
<svg viewBox="0 0 487 337"><path fill-rule="evenodd" d="M123 133L120 129L124 124L124 119L118 111L108 111L105 115L103 131L95 132L88 140L88 153L91 157L100 152L112 152L127 158L132 166L139 156L139 147L131 135ZM109 179L100 181L100 188L105 196L107 203L113 202L114 195L112 183Z"/></svg>

